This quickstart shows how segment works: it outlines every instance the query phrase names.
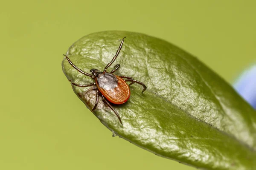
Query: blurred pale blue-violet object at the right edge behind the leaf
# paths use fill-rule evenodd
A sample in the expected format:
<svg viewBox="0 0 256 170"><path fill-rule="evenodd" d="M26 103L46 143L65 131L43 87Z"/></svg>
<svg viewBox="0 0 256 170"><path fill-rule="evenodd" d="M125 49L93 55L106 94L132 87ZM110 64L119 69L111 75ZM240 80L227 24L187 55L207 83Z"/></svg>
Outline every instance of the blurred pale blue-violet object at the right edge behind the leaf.
<svg viewBox="0 0 256 170"><path fill-rule="evenodd" d="M256 65L244 71L234 83L236 91L256 109Z"/></svg>

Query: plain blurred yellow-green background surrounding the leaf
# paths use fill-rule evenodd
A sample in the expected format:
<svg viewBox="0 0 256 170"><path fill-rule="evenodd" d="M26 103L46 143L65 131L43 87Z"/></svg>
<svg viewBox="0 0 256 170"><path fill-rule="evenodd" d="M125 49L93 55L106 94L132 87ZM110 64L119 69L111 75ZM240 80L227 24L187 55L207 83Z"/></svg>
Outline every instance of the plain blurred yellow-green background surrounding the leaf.
<svg viewBox="0 0 256 170"><path fill-rule="evenodd" d="M165 39L230 83L256 62L253 0L23 0L1 7L3 170L195 169L111 137L77 98L61 61L86 34L123 30Z"/></svg>

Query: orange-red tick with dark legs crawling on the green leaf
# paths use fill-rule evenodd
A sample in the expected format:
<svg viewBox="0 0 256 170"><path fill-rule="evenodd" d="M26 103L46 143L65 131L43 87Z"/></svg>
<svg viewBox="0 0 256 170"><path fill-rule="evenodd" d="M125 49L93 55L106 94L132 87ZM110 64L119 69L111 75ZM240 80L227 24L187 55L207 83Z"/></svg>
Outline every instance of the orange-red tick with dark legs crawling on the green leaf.
<svg viewBox="0 0 256 170"><path fill-rule="evenodd" d="M111 62L109 62L106 65L106 67L104 68L103 71L99 71L99 70L93 68L90 70L91 74L85 73L80 68L76 67L76 65L74 65L73 62L71 62L71 60L66 55L63 54L67 58L67 61L70 63L70 65L73 68L75 68L81 74L91 77L95 81L95 82L92 82L87 85L79 85L79 84L73 83L71 81L72 85L75 85L78 87L89 87L89 86L96 85L96 89L92 89L92 90L96 90L96 101L95 101L95 105L94 105L92 111L94 111L96 109L98 102L99 102L99 96L101 96L103 102L105 102L105 104L108 105L108 107L111 108L111 110L116 114L116 116L118 117L119 122L121 124L122 124L122 120L121 120L119 114L116 112L116 110L111 106L111 104L109 102L111 102L113 104L117 104L117 105L127 102L127 100L130 97L130 94L131 94L129 85L132 85L134 83L138 83L139 85L143 86L142 93L147 89L147 87L145 86L145 84L143 82L135 80L132 77L117 76L117 75L113 74L116 70L119 69L120 64L116 64L114 66L114 69L111 72L107 71L107 69L116 60L119 52L121 51L125 38L126 37L124 37L122 39L122 41L119 45L119 48L116 51L116 55L113 57ZM131 83L128 85L126 82L131 82Z"/></svg>

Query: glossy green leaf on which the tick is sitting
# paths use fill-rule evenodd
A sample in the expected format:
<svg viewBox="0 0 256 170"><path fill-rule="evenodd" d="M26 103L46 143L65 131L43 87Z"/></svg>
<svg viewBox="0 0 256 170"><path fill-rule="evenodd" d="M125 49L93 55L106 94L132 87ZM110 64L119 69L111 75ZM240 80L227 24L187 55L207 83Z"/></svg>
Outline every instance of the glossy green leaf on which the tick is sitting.
<svg viewBox="0 0 256 170"><path fill-rule="evenodd" d="M207 66L191 54L164 40L125 31L90 34L67 51L71 61L90 73L102 70L127 37L113 65L116 75L126 75L148 87L131 85L125 104L113 111L99 98L93 112L108 129L159 156L203 169L250 170L256 168L256 111ZM64 58L67 79L77 84L94 82ZM96 99L92 87L73 86L90 110Z"/></svg>

